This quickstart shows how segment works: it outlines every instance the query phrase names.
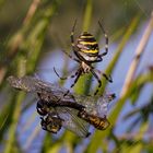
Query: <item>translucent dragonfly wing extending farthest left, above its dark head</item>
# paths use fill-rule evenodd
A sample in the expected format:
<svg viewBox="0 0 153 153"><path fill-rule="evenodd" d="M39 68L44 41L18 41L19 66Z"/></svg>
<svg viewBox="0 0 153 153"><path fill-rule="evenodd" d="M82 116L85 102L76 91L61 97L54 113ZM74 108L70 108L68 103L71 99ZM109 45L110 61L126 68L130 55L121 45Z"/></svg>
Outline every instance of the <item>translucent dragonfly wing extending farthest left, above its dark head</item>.
<svg viewBox="0 0 153 153"><path fill-rule="evenodd" d="M23 78L9 76L8 82L11 86L17 90L32 93L40 93L44 96L49 95L58 98L62 98L67 93L67 90L60 87L57 84L42 81L40 79L25 75ZM64 98L72 99L72 94L67 95Z"/></svg>

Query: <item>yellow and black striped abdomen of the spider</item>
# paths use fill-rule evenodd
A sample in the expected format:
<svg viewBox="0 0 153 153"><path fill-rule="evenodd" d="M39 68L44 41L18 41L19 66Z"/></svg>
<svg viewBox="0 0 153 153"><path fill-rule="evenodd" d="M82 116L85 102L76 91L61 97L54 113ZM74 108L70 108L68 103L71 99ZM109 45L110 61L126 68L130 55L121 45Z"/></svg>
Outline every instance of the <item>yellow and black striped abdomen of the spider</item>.
<svg viewBox="0 0 153 153"><path fill-rule="evenodd" d="M76 47L79 48L80 54L84 54L89 57L97 57L98 55L98 44L93 35L87 32L84 32L79 36Z"/></svg>

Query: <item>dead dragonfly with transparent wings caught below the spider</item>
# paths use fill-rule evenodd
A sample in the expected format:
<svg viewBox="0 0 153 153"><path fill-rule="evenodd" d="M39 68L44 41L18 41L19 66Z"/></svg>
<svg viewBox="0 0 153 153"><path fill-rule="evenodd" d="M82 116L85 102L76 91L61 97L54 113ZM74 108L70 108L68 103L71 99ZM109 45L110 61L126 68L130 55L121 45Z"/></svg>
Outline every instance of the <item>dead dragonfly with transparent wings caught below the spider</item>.
<svg viewBox="0 0 153 153"><path fill-rule="evenodd" d="M115 94L97 97L69 93L63 96L67 89L34 76L9 76L8 82L14 89L38 95L36 108L44 130L57 133L63 127L80 137L89 137L90 125L99 130L109 126L106 114Z"/></svg>

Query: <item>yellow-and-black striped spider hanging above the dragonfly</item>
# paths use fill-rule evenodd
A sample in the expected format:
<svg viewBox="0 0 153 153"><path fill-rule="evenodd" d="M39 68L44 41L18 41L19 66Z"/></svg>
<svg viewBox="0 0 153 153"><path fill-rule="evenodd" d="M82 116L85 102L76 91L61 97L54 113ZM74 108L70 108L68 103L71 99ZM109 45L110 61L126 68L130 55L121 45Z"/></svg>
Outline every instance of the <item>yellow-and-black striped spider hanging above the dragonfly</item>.
<svg viewBox="0 0 153 153"><path fill-rule="evenodd" d="M72 60L76 61L79 63L79 68L78 70L75 71L74 74L70 75L70 78L75 78L74 79L74 82L71 84L70 87L73 87L79 78L84 74L84 73L92 73L93 76L97 80L98 82L98 87L97 90L95 91L94 95L96 95L98 93L98 89L102 86L102 81L99 79L99 76L97 75L97 73L99 74L103 74L103 76L109 81L109 82L113 82L110 76L107 76L105 73L103 73L102 71L99 70L96 70L94 67L93 67L93 63L95 62L101 62L103 60L103 57L107 55L108 52L108 36L102 25L102 23L98 21L98 24L99 24L99 27L105 36L105 40L106 40L106 44L105 44L105 51L103 54L99 54L99 47L98 47L98 44L95 39L95 37L90 34L89 32L83 32L78 38L76 40L74 40L74 28L75 28L75 25L76 25L76 20L74 22L74 25L72 27L72 31L71 31L71 46L72 46L72 50L75 55L75 57L72 57L71 55L69 55L68 52L66 52L63 50L63 52L69 57L71 58ZM61 80L67 80L68 76L66 78L61 78L58 72L56 71L56 69L54 68L54 71L55 73L61 79ZM66 95L69 93L70 91L68 91L66 93Z"/></svg>

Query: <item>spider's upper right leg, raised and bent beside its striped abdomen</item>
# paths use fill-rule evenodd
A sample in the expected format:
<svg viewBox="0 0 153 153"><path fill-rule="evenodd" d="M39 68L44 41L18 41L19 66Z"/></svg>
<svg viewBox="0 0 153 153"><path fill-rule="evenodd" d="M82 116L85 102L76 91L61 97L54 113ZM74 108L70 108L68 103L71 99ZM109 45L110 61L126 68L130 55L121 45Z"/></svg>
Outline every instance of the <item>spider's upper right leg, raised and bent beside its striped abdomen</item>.
<svg viewBox="0 0 153 153"><path fill-rule="evenodd" d="M98 21L98 25L105 36L105 52L101 54L99 57L104 57L107 55L108 52L108 35L106 34L105 30L104 30L104 26L102 25L102 23Z"/></svg>

